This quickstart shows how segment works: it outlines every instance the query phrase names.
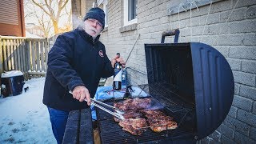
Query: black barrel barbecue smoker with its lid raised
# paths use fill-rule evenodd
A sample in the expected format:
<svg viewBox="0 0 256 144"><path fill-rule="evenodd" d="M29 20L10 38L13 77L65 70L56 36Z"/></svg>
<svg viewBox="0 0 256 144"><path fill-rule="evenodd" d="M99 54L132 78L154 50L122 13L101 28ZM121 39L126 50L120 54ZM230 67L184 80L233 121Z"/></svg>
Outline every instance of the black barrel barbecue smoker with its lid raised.
<svg viewBox="0 0 256 144"><path fill-rule="evenodd" d="M141 86L174 117L178 128L160 133L148 128L141 135L133 135L122 130L112 115L97 109L102 143L195 143L224 121L234 97L228 62L206 44L178 43L178 33L164 33L162 43L145 44L148 84ZM175 35L174 43L164 43L169 35ZM113 104L113 100L106 103Z"/></svg>

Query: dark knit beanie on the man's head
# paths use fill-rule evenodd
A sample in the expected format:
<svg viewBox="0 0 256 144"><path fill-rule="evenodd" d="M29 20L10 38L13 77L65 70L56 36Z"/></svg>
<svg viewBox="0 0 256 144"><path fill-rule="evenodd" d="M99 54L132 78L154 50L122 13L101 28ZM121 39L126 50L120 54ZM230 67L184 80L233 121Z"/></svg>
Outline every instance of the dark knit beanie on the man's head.
<svg viewBox="0 0 256 144"><path fill-rule="evenodd" d="M97 19L98 22L102 23L102 30L105 27L105 13L102 9L98 7L91 8L88 13L86 13L86 16L83 18L83 21L85 21L88 18L94 18Z"/></svg>

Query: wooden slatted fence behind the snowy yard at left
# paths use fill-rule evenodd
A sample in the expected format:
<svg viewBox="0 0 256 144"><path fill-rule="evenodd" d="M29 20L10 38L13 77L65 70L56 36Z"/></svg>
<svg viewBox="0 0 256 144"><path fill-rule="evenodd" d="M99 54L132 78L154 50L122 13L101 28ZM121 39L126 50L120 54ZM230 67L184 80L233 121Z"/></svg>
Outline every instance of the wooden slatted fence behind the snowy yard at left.
<svg viewBox="0 0 256 144"><path fill-rule="evenodd" d="M0 36L0 72L46 74L49 42L47 38Z"/></svg>

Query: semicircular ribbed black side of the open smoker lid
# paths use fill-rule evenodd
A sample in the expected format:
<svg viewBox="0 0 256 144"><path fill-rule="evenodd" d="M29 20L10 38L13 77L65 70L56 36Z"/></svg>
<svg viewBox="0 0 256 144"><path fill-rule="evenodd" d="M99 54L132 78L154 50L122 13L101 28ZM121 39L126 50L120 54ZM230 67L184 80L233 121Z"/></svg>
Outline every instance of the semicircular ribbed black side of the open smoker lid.
<svg viewBox="0 0 256 144"><path fill-rule="evenodd" d="M234 98L230 65L218 50L191 42L198 138L211 134L224 121Z"/></svg>

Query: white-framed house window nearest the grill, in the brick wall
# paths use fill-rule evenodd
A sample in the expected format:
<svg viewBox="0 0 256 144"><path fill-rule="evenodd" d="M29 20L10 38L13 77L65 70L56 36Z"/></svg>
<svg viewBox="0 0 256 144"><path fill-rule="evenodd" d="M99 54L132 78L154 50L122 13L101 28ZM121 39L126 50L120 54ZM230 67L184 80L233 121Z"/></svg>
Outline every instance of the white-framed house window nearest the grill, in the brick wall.
<svg viewBox="0 0 256 144"><path fill-rule="evenodd" d="M137 0L124 0L124 26L137 22Z"/></svg>

